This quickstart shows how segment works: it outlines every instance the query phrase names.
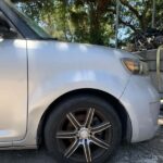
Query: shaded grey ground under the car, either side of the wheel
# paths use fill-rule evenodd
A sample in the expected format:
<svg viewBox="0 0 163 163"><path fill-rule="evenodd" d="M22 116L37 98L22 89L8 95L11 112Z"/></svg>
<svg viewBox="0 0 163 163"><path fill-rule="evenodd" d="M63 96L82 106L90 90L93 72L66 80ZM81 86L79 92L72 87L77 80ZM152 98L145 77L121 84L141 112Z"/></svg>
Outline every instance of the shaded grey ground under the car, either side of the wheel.
<svg viewBox="0 0 163 163"><path fill-rule="evenodd" d="M163 117L160 118L163 125ZM0 163L57 163L45 149L0 151ZM155 137L146 142L122 145L108 163L163 163L163 126Z"/></svg>

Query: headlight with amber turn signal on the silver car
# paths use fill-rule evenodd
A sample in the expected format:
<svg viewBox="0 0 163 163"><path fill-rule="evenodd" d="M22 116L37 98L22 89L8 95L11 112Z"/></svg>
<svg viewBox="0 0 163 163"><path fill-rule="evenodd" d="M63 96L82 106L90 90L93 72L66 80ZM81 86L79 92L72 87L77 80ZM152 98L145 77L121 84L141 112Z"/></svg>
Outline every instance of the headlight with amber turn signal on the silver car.
<svg viewBox="0 0 163 163"><path fill-rule="evenodd" d="M124 66L133 74L148 75L148 65L138 59L122 59Z"/></svg>

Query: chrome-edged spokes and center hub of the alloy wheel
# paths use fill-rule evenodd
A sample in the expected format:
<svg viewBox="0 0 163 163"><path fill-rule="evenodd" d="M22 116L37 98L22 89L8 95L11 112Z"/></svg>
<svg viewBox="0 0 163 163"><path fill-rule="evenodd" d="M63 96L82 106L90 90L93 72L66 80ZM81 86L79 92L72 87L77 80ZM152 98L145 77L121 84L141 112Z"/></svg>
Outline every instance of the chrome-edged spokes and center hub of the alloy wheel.
<svg viewBox="0 0 163 163"><path fill-rule="evenodd" d="M105 133L112 126L110 122L105 122L105 120L101 118L101 121L98 121L98 117L99 114L95 109L89 109L86 113L86 116L77 116L72 112L66 114L66 124L71 124L74 129L68 130L66 127L66 129L64 128L64 130L59 130L57 133L57 139L67 140L70 142L64 152L65 158L71 158L73 154L75 154L77 149L83 147L83 154L85 155L86 161L89 163L92 161L91 151L95 149L91 148L91 145L102 150L108 150L110 148L108 140L102 140L102 138L105 139L103 131ZM83 120L83 123L80 123L79 120ZM93 123L95 121L98 123ZM99 135L100 138L98 137ZM64 142L66 143L66 141Z"/></svg>

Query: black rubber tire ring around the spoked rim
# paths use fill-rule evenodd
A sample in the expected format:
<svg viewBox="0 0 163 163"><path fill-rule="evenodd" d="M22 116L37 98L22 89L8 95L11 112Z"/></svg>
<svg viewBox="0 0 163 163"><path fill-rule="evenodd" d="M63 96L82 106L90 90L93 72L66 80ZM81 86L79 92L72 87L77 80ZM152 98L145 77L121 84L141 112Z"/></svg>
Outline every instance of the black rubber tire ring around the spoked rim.
<svg viewBox="0 0 163 163"><path fill-rule="evenodd" d="M68 160L61 154L59 150L59 145L55 138L59 125L63 118L65 118L66 114L70 112L75 111L77 108L95 108L96 110L100 111L111 123L112 125L112 141L110 143L109 150L93 161L93 163L104 163L109 161L111 155L114 153L114 151L117 149L121 139L122 139L122 126L120 118L112 108L112 105L109 104L103 99L97 98L95 96L78 96L78 97L72 97L62 103L60 103L50 114L46 127L45 127L45 143L50 152L54 156L54 159L60 162L66 162L66 163L77 163L73 162L72 160ZM79 162L84 163L84 162Z"/></svg>

